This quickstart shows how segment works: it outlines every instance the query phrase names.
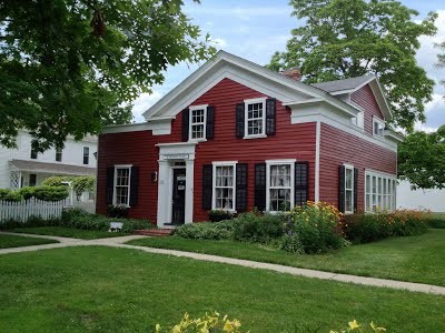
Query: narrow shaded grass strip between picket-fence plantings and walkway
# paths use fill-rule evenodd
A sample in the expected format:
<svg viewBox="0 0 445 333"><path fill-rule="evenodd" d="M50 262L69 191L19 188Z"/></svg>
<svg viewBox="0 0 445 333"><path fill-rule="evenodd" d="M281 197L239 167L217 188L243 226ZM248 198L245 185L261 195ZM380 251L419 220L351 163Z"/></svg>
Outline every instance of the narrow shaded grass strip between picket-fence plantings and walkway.
<svg viewBox="0 0 445 333"><path fill-rule="evenodd" d="M121 232L81 230L81 229L72 229L63 226L17 228L9 231L18 233L46 234L46 235L55 235L62 238L81 239L81 240L96 240L96 239L127 235L127 233L121 233Z"/></svg>

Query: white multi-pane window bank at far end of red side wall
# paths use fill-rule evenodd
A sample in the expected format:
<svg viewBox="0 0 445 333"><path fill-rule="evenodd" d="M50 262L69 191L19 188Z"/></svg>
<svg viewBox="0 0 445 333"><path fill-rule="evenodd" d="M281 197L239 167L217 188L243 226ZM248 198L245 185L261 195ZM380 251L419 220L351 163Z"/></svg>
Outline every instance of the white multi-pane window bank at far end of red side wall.
<svg viewBox="0 0 445 333"><path fill-rule="evenodd" d="M375 171L365 172L365 211L396 209L396 178Z"/></svg>

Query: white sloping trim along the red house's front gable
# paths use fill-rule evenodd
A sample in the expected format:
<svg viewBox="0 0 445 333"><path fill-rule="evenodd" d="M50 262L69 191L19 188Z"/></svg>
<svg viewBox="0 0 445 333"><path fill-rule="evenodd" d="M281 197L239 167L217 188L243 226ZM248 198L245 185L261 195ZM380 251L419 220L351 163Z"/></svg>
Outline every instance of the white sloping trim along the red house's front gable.
<svg viewBox="0 0 445 333"><path fill-rule="evenodd" d="M212 81L208 78L208 73L214 73L221 68L224 64L229 64L233 68L237 68L244 73L246 71L260 75L275 84L279 84L281 88L290 89L294 93L304 93L309 98L322 98L323 101L335 105L337 109L343 110L347 114L355 117L359 110L355 107L342 101L329 94L328 92L320 90L316 87L305 84L303 82L293 80L283 75L276 71L269 70L263 65L259 65L255 62L249 60L243 59L240 57L234 56L226 51L218 51L217 54L208 60L204 65L198 68L194 73L191 73L188 78L186 78L181 83L179 83L176 88L174 88L170 92L168 92L164 98L161 98L158 102L156 102L150 109L145 111L142 115L146 118L147 121L150 121L151 118L165 115L162 113L168 112L168 110L175 110L175 112L180 112L185 107L187 107L187 102L192 101L192 88L199 85L202 81ZM208 74L208 75L206 75ZM233 74L231 71L226 71L224 74L230 75ZM222 74L222 75L224 75ZM206 77L206 79L202 79ZM219 77L221 78L221 77ZM216 79L216 78L214 78ZM212 81L215 82L215 81ZM207 84L206 88L210 88L211 84ZM283 90L283 89L279 89ZM204 90L200 90L199 93L201 94ZM189 95L189 99L185 99L184 103L181 103L181 95ZM288 101L290 102L290 101ZM288 103L289 104L289 103ZM171 114L168 114L171 115Z"/></svg>

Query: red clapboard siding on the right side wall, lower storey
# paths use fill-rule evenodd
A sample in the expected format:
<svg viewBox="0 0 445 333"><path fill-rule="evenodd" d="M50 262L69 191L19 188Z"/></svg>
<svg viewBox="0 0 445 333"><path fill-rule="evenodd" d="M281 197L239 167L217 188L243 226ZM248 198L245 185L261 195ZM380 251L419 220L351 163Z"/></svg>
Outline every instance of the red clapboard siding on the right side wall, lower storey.
<svg viewBox="0 0 445 333"><path fill-rule="evenodd" d="M338 204L338 167L358 169L358 209L364 209L365 170L389 174L397 172L397 153L322 123L320 200Z"/></svg>

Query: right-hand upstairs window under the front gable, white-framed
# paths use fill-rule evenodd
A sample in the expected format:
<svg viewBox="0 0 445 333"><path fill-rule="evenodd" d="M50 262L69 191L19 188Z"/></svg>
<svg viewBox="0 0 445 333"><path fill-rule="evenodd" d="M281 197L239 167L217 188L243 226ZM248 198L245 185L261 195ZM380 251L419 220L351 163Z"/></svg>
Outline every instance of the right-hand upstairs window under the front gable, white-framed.
<svg viewBox="0 0 445 333"><path fill-rule="evenodd" d="M266 137L266 98L245 100L245 138Z"/></svg>

